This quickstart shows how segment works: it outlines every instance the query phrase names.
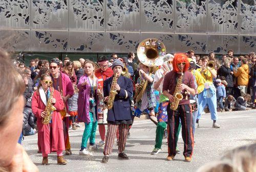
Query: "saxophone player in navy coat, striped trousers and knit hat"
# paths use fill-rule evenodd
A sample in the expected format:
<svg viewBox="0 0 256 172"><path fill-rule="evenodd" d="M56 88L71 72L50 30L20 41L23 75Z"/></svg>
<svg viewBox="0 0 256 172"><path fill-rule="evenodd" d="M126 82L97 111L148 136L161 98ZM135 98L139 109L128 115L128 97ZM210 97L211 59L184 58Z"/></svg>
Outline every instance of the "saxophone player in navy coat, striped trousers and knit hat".
<svg viewBox="0 0 256 172"><path fill-rule="evenodd" d="M119 59L115 60L112 64L114 75L103 82L104 102L108 102L108 105L113 104L113 106L108 110L108 131L106 133L102 163L108 163L109 161L117 128L119 129L118 158L129 159L123 151L129 126L133 122L129 103L133 92L133 83L130 78L121 76L123 67L123 63Z"/></svg>

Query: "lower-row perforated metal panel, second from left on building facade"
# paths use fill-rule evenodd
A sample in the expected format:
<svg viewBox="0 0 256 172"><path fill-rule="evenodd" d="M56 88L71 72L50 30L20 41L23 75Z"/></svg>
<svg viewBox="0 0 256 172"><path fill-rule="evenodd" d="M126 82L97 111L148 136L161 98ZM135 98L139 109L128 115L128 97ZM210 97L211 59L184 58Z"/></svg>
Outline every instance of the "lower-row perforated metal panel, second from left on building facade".
<svg viewBox="0 0 256 172"><path fill-rule="evenodd" d="M67 52L68 31L32 31L31 51L33 52Z"/></svg>

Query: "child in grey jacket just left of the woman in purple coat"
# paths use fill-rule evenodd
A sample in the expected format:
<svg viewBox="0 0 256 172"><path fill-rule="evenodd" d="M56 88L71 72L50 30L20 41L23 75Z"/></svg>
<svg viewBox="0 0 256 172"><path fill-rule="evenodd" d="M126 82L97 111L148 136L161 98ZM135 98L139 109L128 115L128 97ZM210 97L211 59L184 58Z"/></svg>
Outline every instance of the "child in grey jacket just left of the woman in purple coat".
<svg viewBox="0 0 256 172"><path fill-rule="evenodd" d="M72 123L72 129L76 130L77 129L76 127L79 127L78 125L76 125L78 89L75 84L73 84L73 88L74 88L74 94L72 97L68 99L68 106L69 106L69 114L70 114L69 120L70 120L70 123Z"/></svg>

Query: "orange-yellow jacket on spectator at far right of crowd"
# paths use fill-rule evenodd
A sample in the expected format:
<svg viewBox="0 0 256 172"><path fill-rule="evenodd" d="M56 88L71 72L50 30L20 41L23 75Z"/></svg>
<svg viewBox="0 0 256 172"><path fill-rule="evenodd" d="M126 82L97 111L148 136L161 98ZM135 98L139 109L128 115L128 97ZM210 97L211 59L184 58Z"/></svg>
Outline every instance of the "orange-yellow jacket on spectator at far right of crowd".
<svg viewBox="0 0 256 172"><path fill-rule="evenodd" d="M233 71L234 76L238 78L238 85L247 86L249 82L249 66L243 64L238 71Z"/></svg>

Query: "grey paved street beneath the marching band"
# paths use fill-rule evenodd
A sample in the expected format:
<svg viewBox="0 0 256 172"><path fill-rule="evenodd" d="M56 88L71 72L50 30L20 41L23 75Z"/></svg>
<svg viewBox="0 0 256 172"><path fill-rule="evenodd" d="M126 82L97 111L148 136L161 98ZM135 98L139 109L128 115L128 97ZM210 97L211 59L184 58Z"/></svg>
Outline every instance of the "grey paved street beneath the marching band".
<svg viewBox="0 0 256 172"><path fill-rule="evenodd" d="M218 159L225 151L236 146L256 142L256 110L219 113L220 129L212 128L210 114L203 114L200 128L196 129L193 161L184 162L182 154L176 155L175 161L166 161L167 145L163 140L162 151L151 155L155 144L156 126L150 120L136 120L127 139L126 153L130 160L117 159L117 145L114 144L113 154L108 164L102 164L102 149L93 152L90 157L79 156L83 128L70 131L72 153L65 156L68 165L57 165L56 153L49 155L48 166L42 166L41 154L37 153L37 135L26 136L23 145L39 171L196 171L202 164ZM100 140L98 131L96 141ZM183 151L181 136L179 150Z"/></svg>

